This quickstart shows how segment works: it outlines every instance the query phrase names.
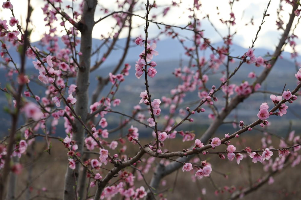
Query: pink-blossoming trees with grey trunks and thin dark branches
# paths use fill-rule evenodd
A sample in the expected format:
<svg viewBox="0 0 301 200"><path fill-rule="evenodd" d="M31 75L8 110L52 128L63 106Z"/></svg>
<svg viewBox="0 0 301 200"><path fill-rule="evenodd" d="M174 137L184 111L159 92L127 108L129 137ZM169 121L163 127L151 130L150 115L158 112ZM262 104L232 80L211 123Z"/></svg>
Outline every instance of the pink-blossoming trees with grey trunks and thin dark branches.
<svg viewBox="0 0 301 200"><path fill-rule="evenodd" d="M11 78L8 85L0 88L7 97L5 110L11 115L10 132L3 137L0 146L1 199L20 198L26 190L30 194L30 184L17 194L16 176L22 169L22 159L19 158L29 151L29 146L33 146L34 140L39 137L44 139L46 152L49 154L54 151L51 149L57 148L52 146L53 140L61 141L67 149L68 166L64 178L63 199L109 199L116 194L123 196L123 199L164 199L160 192L160 181L177 169L182 168L183 173L194 172L195 178L209 182L206 178L212 175L216 167L206 161L210 154L217 154L221 159L225 159L226 156L230 161L235 159L237 164L240 164L241 160L252 158L253 163L260 162L268 169L257 182L252 181L250 175L248 185L241 185L239 189L216 187L216 195L227 190L230 194L225 198L237 199L268 182L271 183L273 176L283 172L283 169L299 164L301 159L299 136L294 136L293 131L286 138L279 133L269 133L267 119L281 117L282 121L287 109L297 104L294 101L297 100L301 87L301 70L298 68L296 70L295 81L298 81L298 84L295 88L284 86L284 88L277 88L278 92L259 90L287 44L292 48L292 58L297 57L295 48L297 24L293 23L296 19L295 14L299 15L300 12L297 10L297 4L285 1L285 5L290 5L291 11L289 19L284 19L282 13L287 11L281 10L283 4L281 1L276 22L282 35L275 52L263 58L254 55L254 47L265 25L265 19L269 17L270 2L264 10L262 22L250 48L246 52L241 52L239 56L231 53L232 40L236 35L236 31L232 31L232 28L237 22L232 8L236 1L229 2L230 17L220 19L220 22L227 27L227 33L219 32L210 21L209 15L201 11L202 5L196 0L188 8L190 15L187 25L184 26L166 24L159 19L161 15L166 16L172 9L183 6L184 3L181 1L164 2L164 4L149 0L116 1L116 8L113 10L101 6L100 3L96 0L85 0L75 4L72 1L70 5L64 7L61 0L45 1L42 10L47 31L41 40L42 50L30 42L30 35L35 31L30 28L33 8L28 6L26 21L21 25L13 9L17 4L13 5L10 1L3 2L3 9L11 10L11 16L9 20L0 20L1 56L4 58L2 65L6 68L9 77L14 77L15 74L17 82ZM79 10L75 9L76 6L79 6ZM101 16L95 18L99 8ZM145 14L140 14L141 12ZM162 13L156 14L157 12ZM218 7L217 12L219 13ZM204 37L206 30L202 30L200 23L202 16L221 36L223 40L221 45L216 46L210 38ZM94 29L95 26L111 19L115 20L111 32L103 36L102 43L93 49L92 33L97 31ZM139 19L143 20L143 23L140 23ZM58 22L64 30L61 38L57 37L60 32L56 27ZM247 25L252 24L251 19ZM133 33L133 30L141 30L143 27L143 35ZM183 60L185 67L176 66L173 75L179 80L179 84L165 96L159 96L161 95L159 88L152 87L150 79L154 79L155 82L156 69L161 67L157 66L156 56L173 52L172 49L170 52L155 50L156 46L160 45L160 41L157 45L154 42L159 36L149 38L150 27L163 30L159 36L165 35L177 40L185 49L185 56L188 58L187 63ZM184 35L182 31L185 31ZM190 35L187 36L188 34ZM120 48L118 43L120 35L126 35L120 58L116 60L110 73L98 77L98 84L90 98L89 76L106 62L114 49ZM60 48L59 40L64 43L64 48ZM132 112L121 112L115 107L121 107L131 100L127 99L128 97L119 99L117 95L123 82L134 77L134 73L129 75L130 64L125 63L126 55L133 44L141 47L141 53L137 54L135 64L135 79L140 86L144 86L144 89L140 93L140 102L138 95L136 96L137 104L140 104L136 105ZM8 47L17 50L20 63L17 63L17 58L12 56L12 50ZM209 56L202 56L208 51L210 51ZM92 63L92 56L100 53L103 54L101 58L98 56L98 59ZM25 68L28 68L26 58L34 60L31 64L36 68L34 76L26 74ZM256 74L249 70L248 74L239 74L248 64L260 68L261 72ZM213 81L210 82L209 79L216 75L218 79L212 78ZM72 77L76 77L75 84L72 83ZM235 83L235 77L238 77L241 83ZM254 78L252 83L244 81L251 78ZM45 96L38 95L32 89L33 82L45 88ZM105 94L106 85L109 85L110 90ZM256 107L252 108L252 110L259 109L255 116L256 120L251 121L246 118L243 121L231 115L237 106L258 93L269 94L270 100L263 100L261 96L260 101L256 102ZM299 109L299 105L296 108ZM21 115L24 116L23 125L19 125ZM114 117L109 120L109 116ZM119 124L116 123L116 116L122 116ZM190 124L202 123L205 118L210 118L211 121L202 134L190 129L189 126L192 126ZM60 121L64 121L66 132L64 137L58 136L55 131ZM217 135L218 128L229 122L240 128L232 129L231 133L223 133L222 136ZM114 126L113 129L105 129L110 124ZM147 136L153 133L153 137L151 139L148 137L147 142L139 137L138 132L143 130L143 126L146 127ZM248 136L256 127L261 127L259 131L266 134L262 145L258 144L259 146L256 147L257 150L247 145L242 150L238 150L237 145L235 147L230 143L238 137ZM200 130L196 131L200 132ZM166 147L164 143L171 140L175 141L169 143L171 146L178 145L176 136L182 137L183 142L192 142L188 146L187 143L183 143L183 150L177 147L176 151L170 151L173 147ZM195 136L199 139L195 139ZM271 136L275 137L271 138ZM272 144L271 139L277 141L280 139L281 145L278 148L273 147L276 144ZM268 142L264 142L267 140ZM193 145L189 148L191 143ZM245 145L243 142L240 144ZM136 151L125 151L126 145L134 145ZM200 155L202 160L198 159ZM197 159L194 158L196 156ZM151 179L148 179L145 175L155 158L158 164ZM228 163L225 164L225 168L227 166ZM134 184L134 174L144 180L145 187L141 183ZM96 191L93 190L94 188Z"/></svg>

